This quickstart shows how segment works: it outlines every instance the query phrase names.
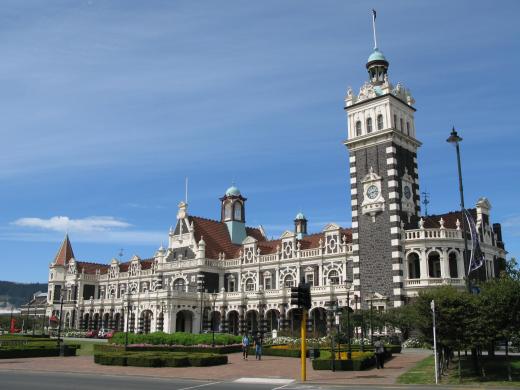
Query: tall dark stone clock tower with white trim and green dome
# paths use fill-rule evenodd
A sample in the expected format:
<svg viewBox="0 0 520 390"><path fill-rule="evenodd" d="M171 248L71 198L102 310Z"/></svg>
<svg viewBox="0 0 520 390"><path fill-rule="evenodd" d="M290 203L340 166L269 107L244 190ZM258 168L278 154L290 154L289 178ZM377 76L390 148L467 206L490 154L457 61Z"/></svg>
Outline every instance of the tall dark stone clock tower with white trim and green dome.
<svg viewBox="0 0 520 390"><path fill-rule="evenodd" d="M420 211L419 176L410 91L388 77L389 63L377 47L368 58L368 81L359 94L347 91L353 284L363 306L404 304L405 226ZM375 295L374 295L375 294Z"/></svg>

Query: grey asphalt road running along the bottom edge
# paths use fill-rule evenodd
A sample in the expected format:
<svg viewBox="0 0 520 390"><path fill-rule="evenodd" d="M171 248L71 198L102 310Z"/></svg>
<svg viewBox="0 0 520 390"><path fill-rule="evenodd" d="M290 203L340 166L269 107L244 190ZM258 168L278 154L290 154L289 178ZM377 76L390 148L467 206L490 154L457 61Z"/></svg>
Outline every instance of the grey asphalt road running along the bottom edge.
<svg viewBox="0 0 520 390"><path fill-rule="evenodd" d="M40 373L0 371L2 390L327 390L327 389L417 389L445 390L455 386L406 386L406 385L319 385L301 384L283 379L241 378L235 381L202 381L195 379L165 379L150 377L128 377L116 375L90 375L66 373ZM498 389L498 388L494 388Z"/></svg>

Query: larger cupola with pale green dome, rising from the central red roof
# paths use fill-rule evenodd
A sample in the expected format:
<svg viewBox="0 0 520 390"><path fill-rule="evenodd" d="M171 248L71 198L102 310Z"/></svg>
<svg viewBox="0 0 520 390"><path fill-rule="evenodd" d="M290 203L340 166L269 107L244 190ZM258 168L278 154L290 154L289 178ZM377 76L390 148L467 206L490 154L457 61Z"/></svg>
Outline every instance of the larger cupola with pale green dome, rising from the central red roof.
<svg viewBox="0 0 520 390"><path fill-rule="evenodd" d="M225 223L231 241L234 244L241 244L246 238L246 198L242 196L240 190L232 185L226 190L221 201L221 222Z"/></svg>

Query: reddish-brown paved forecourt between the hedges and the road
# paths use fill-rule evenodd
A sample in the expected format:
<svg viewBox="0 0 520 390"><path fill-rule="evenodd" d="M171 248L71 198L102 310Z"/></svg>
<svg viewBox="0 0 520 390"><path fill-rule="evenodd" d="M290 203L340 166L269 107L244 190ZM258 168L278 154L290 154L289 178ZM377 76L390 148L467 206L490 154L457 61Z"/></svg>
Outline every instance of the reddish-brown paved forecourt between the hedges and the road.
<svg viewBox="0 0 520 390"><path fill-rule="evenodd" d="M395 354L386 362L382 370L371 369L366 371L315 371L310 361L307 360L306 384L320 385L392 385L402 373L406 372L418 361L431 354L431 351L407 351ZM262 360L255 360L250 356L247 361L242 359L240 353L228 355L229 363L225 366L213 367L121 367L102 366L94 363L93 356L74 357L46 357L1 359L0 377L2 388L5 388L6 375L20 374L81 374L87 376L124 376L145 377L155 379L197 380L211 382L225 382L237 384L248 380L248 388L251 378L271 380L270 385L276 384L275 380L281 380L282 385L298 383L300 380L300 359L278 356L264 356ZM261 382L260 380L260 382ZM283 382L285 381L285 382ZM254 380L253 380L254 382ZM258 381L257 381L258 382ZM199 387L199 386L197 386ZM272 386L270 388L274 388ZM29 388L29 387L28 387ZM65 388L65 387L64 387ZM285 388L285 387L284 387Z"/></svg>

